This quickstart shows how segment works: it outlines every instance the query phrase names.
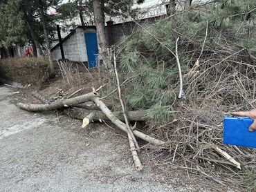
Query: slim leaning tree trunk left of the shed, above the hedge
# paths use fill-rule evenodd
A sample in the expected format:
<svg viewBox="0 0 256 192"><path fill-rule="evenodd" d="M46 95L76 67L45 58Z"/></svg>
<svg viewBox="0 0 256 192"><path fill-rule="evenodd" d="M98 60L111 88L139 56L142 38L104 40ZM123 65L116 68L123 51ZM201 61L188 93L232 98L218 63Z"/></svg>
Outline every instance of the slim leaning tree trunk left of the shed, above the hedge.
<svg viewBox="0 0 256 192"><path fill-rule="evenodd" d="M39 0L39 13L40 13L40 17L41 17L41 22L42 22L42 26L44 28L44 36L46 39L46 45L47 45L47 52L48 52L48 59L49 59L49 68L51 70L51 73L54 73L54 66L53 66L53 57L51 54L51 44L50 44L50 40L49 40L49 32L46 26L46 20L44 17L44 4L42 2L42 0Z"/></svg>

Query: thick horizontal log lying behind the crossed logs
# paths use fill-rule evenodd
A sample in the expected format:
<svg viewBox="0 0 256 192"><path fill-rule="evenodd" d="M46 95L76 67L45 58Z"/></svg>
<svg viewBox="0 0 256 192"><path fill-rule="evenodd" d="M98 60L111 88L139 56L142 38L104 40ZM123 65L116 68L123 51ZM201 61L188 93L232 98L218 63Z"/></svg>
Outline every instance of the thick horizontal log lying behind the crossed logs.
<svg viewBox="0 0 256 192"><path fill-rule="evenodd" d="M98 108L100 109L100 108ZM95 112L95 115L93 117L93 120L103 119L103 120L109 120L109 118L102 112L102 111L87 111L83 108L68 108L64 111L67 115L70 117L73 117L75 119L84 119L87 115L89 115L91 112ZM129 121L132 122L144 122L146 120L146 115L148 111L128 111L127 117ZM122 115L122 111L115 111L113 112L113 115L115 115L118 119L121 121L125 121L124 115Z"/></svg>

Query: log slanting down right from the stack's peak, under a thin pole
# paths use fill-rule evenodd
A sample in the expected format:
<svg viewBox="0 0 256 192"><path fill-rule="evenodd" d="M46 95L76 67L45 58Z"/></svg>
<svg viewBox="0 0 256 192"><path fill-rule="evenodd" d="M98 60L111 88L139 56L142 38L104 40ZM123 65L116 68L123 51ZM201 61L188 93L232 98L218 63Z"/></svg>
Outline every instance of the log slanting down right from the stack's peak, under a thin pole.
<svg viewBox="0 0 256 192"><path fill-rule="evenodd" d="M111 122L113 124L118 126L118 128L120 128L122 131L125 131L126 133L128 133L127 128L126 128L126 124L121 122L120 119L118 119L118 117L113 115L113 113L109 110L109 108L107 108L107 106L100 100L99 97L93 97L92 99L93 99L93 102L97 106L100 107L101 111L109 118L109 120L111 120ZM154 137L150 137L149 135L146 135L145 133L141 133L140 131L137 131L137 130L134 130L134 135L136 137L139 137L140 139L145 140L146 142L149 142L149 143L154 144L156 146L165 144L165 142L163 142L161 140L157 140Z"/></svg>

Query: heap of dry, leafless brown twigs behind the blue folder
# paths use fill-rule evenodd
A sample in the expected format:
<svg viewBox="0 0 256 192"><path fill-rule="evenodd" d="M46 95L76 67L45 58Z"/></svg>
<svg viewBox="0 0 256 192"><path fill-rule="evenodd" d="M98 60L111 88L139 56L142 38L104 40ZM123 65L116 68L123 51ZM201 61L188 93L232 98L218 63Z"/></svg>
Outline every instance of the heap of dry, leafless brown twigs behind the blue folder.
<svg viewBox="0 0 256 192"><path fill-rule="evenodd" d="M232 111L255 108L256 58L246 48L221 38L226 44L220 44L219 50L205 48L200 58L199 49L189 53L190 70L183 71L185 97L174 102L176 118L163 126L149 126L149 132L167 141L163 148L154 148L151 155L161 169L177 166L188 171L188 177L196 173L219 184L244 187L248 170L255 170L256 150L222 144L222 120ZM179 84L174 88L179 90ZM242 169L215 146L239 162Z"/></svg>

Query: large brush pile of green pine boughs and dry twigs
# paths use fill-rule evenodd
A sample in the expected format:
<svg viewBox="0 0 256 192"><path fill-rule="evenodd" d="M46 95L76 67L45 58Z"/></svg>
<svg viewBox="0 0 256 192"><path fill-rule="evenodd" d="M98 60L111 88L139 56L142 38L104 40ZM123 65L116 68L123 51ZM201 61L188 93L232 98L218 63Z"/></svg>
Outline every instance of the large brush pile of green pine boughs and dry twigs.
<svg viewBox="0 0 256 192"><path fill-rule="evenodd" d="M190 10L124 39L118 61L122 81L130 83L122 92L127 108L149 111L147 131L167 141L150 153L157 166L244 186L256 151L222 144L222 122L255 108L255 32L248 35L253 27L244 21L220 27L205 15Z"/></svg>

